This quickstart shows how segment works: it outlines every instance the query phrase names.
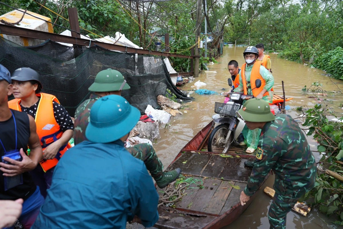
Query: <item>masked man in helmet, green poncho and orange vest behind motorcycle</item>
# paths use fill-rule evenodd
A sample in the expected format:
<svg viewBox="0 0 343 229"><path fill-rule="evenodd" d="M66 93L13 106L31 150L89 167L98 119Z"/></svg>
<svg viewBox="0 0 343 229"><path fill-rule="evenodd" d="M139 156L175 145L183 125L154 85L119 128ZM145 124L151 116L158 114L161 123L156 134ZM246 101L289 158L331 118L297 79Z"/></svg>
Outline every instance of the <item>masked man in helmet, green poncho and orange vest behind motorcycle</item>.
<svg viewBox="0 0 343 229"><path fill-rule="evenodd" d="M249 46L244 50L243 56L245 58L245 64L241 68L239 85L234 91L243 91L244 94L253 95L256 98L271 103L271 89L274 85L274 77L261 65L261 61L256 61L258 55L259 51L254 46ZM257 79L260 79L262 82L260 88L256 88L255 82ZM248 145L246 152L253 153L257 149L261 129L250 130L245 126L242 132ZM243 143L240 143L240 145L243 145Z"/></svg>

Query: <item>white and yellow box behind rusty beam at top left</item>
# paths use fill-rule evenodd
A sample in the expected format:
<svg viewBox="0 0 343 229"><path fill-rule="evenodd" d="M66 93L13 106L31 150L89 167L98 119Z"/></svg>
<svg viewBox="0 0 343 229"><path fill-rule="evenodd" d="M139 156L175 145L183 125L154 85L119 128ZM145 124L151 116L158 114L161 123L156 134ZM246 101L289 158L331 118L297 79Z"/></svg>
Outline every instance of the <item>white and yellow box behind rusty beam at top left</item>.
<svg viewBox="0 0 343 229"><path fill-rule="evenodd" d="M21 10L22 12L19 10ZM10 23L18 22L22 18L24 14L23 12L25 11L22 9L19 9L19 10L13 10L11 12L5 13L0 16L0 19L6 22L10 22ZM28 15L27 13L34 15L38 18ZM31 11L26 11L23 20L19 22L19 25L14 25L14 26L20 27L20 28L28 28L31 30L37 30L37 31L42 31L42 32L54 33L54 28L52 28L52 24L45 22L43 20L40 20L39 18L45 21L51 22L51 19L47 18L46 16L42 16ZM0 22L0 24L2 23ZM27 38L27 37L19 37L19 36L5 35L5 34L0 34L0 36L21 46L34 46L34 45L39 45L44 42L43 40L32 39L32 38Z"/></svg>

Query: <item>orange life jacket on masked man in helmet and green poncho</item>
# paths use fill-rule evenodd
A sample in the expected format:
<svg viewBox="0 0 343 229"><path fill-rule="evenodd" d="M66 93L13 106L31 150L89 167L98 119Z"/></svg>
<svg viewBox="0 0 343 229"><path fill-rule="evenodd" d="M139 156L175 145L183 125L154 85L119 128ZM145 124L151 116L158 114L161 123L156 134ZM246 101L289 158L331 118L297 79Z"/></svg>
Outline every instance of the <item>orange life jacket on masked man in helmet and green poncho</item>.
<svg viewBox="0 0 343 229"><path fill-rule="evenodd" d="M248 94L248 89L247 89L247 80L245 79L245 66L247 64L244 63L242 66L242 69L240 71L240 75L242 78L242 82L243 82L243 92L244 94ZM261 61L256 61L254 63L254 65L252 66L251 69L251 74L250 74L250 87L252 89L252 94L253 96L257 96L258 94L260 94L260 92L263 90L264 85L265 85L265 81L262 78L262 76L260 75L260 67L261 67ZM256 84L255 84L255 80L260 79L261 80L261 87L260 88L256 88ZM269 92L265 92L263 94L263 96L269 95Z"/></svg>

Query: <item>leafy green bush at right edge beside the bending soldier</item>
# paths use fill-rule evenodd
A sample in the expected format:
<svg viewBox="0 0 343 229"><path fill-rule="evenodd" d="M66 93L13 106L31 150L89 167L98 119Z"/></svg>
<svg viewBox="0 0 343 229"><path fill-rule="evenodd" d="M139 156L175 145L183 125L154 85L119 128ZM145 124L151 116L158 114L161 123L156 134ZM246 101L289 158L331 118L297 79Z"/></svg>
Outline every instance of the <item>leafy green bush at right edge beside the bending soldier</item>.
<svg viewBox="0 0 343 229"><path fill-rule="evenodd" d="M305 114L306 119L303 126L309 127L307 135L314 134L313 137L319 143L317 151L324 152L320 164L333 172L343 172L342 165L335 162L343 157L343 124L329 121L327 116L335 116L335 114L326 106L315 105ZM343 225L343 217L341 217L343 215L342 182L325 172L320 173L316 178L315 188L306 195L307 198L310 196L314 197L315 204L319 206L322 213L336 215L338 220L335 221L335 224Z"/></svg>

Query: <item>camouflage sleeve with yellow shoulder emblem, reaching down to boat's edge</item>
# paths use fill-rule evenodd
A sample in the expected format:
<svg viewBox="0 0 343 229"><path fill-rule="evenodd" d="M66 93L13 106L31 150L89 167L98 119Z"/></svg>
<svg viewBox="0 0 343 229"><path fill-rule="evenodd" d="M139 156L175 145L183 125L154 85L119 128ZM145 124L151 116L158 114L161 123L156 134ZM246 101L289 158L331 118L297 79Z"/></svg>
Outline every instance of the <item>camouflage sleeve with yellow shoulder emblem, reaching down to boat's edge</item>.
<svg viewBox="0 0 343 229"><path fill-rule="evenodd" d="M260 138L254 167L248 179L247 186L244 189L246 195L252 196L259 189L275 162L280 158L283 144L284 141L279 137L274 139ZM278 146L277 148L280 150L275 149L274 146Z"/></svg>

